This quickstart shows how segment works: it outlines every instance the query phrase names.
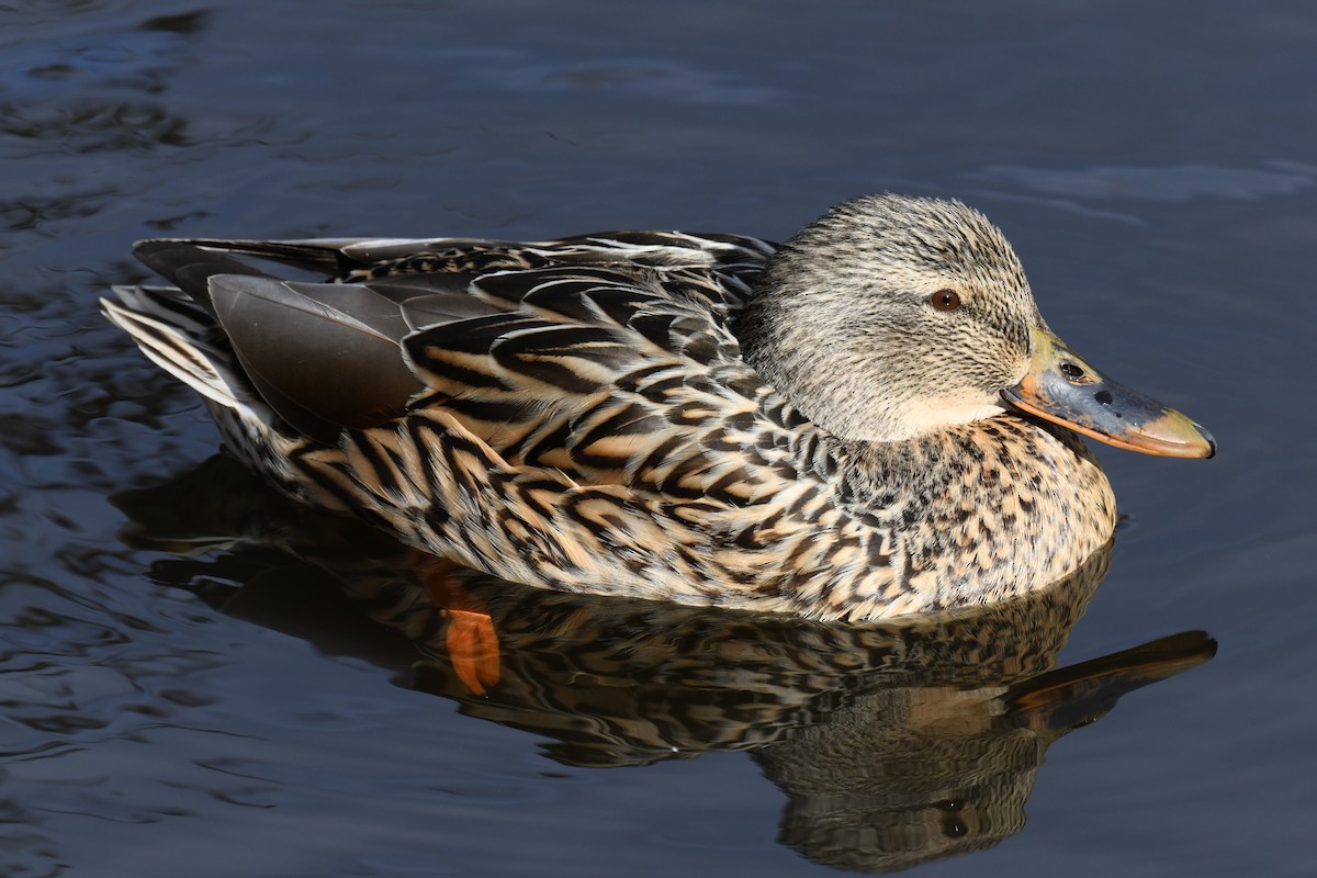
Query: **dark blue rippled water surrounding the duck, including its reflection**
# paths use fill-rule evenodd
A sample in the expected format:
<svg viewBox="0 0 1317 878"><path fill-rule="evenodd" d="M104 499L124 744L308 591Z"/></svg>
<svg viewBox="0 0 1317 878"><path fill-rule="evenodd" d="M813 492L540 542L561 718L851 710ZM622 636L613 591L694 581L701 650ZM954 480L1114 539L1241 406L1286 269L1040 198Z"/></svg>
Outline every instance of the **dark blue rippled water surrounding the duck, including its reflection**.
<svg viewBox="0 0 1317 878"><path fill-rule="evenodd" d="M47 0L0 25L0 871L795 875L967 833L996 844L919 874L1310 871L1305 5ZM479 698L387 546L207 463L196 400L94 304L148 236L780 238L872 190L986 211L1063 338L1216 434L1208 463L1098 452L1129 520L1094 594L857 644L478 592L508 650ZM1080 669L1034 686L1064 707L1019 702L1054 659ZM998 769L939 778L964 752Z"/></svg>

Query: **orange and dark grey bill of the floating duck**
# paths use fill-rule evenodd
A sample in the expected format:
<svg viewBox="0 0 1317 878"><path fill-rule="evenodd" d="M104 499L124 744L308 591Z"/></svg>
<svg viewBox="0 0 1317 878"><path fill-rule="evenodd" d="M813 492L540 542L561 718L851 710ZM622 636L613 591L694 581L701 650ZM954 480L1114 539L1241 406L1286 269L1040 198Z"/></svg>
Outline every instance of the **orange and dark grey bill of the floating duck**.
<svg viewBox="0 0 1317 878"><path fill-rule="evenodd" d="M1008 403L1093 438L1159 457L1212 457L1217 444L1188 417L1104 378L1060 338L1034 326L1029 374L1001 392Z"/></svg>

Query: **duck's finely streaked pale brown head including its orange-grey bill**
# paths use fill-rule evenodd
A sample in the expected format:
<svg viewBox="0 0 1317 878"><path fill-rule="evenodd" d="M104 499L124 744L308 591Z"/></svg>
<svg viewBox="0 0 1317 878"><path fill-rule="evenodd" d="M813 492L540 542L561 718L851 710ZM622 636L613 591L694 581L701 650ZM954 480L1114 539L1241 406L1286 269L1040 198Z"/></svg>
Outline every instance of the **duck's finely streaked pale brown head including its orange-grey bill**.
<svg viewBox="0 0 1317 878"><path fill-rule="evenodd" d="M871 195L832 208L773 257L738 334L784 396L843 438L909 440L1014 407L1147 454L1216 449L1072 353L1010 244L959 201Z"/></svg>

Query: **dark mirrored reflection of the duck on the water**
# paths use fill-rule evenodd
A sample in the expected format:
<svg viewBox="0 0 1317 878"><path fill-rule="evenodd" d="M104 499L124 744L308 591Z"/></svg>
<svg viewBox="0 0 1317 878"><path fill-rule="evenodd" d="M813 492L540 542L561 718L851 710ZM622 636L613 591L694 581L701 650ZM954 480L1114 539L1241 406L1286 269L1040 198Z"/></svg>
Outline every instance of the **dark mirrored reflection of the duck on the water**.
<svg viewBox="0 0 1317 878"><path fill-rule="evenodd" d="M551 738L544 749L558 762L749 752L788 795L780 841L848 870L902 869L1019 832L1055 740L1216 652L1187 632L1052 670L1110 545L1025 598L836 625L549 592L436 566L371 528L283 500L224 455L115 503L132 521L125 541L180 555L157 562L158 579L327 652L410 665L416 688ZM217 578L242 587L198 584ZM457 636L473 616L491 631ZM491 637L497 649L486 649Z"/></svg>

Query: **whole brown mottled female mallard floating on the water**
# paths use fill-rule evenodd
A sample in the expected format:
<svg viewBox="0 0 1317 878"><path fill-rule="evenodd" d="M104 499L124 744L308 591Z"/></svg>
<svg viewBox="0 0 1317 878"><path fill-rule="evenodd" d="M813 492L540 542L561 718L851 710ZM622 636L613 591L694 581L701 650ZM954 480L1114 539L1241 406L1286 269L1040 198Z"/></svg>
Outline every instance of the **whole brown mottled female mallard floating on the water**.
<svg viewBox="0 0 1317 878"><path fill-rule="evenodd" d="M236 454L532 584L849 620L982 603L1112 536L1072 430L1213 453L1067 350L1001 232L957 201L860 197L781 246L624 232L137 255L178 288L119 288L105 311Z"/></svg>

